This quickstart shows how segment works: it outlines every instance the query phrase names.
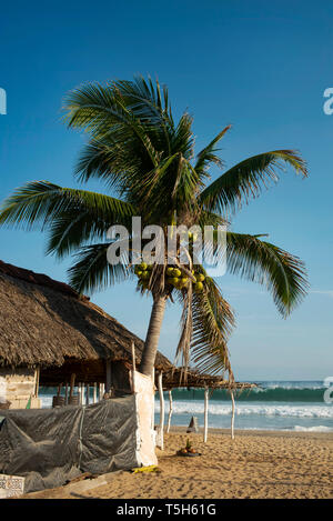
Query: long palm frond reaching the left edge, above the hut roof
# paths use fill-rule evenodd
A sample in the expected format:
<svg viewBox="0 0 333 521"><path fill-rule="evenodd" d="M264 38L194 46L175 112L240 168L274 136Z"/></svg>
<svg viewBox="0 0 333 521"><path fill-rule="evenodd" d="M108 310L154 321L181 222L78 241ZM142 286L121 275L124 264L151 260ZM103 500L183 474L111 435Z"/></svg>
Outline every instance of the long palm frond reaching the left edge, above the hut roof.
<svg viewBox="0 0 333 521"><path fill-rule="evenodd" d="M48 253L70 253L105 237L113 224L129 229L135 208L101 193L33 181L19 188L0 209L0 224L49 231Z"/></svg>

